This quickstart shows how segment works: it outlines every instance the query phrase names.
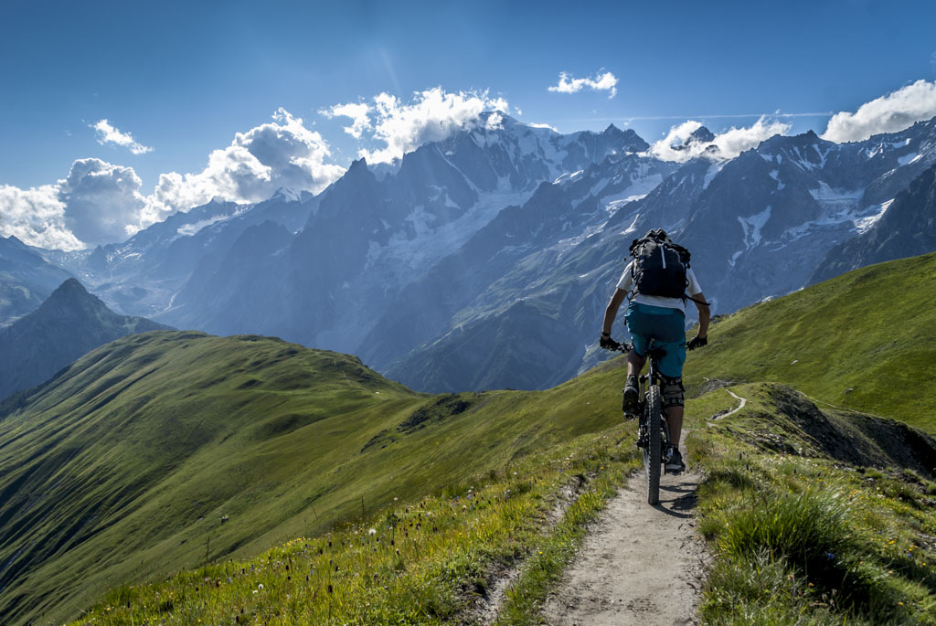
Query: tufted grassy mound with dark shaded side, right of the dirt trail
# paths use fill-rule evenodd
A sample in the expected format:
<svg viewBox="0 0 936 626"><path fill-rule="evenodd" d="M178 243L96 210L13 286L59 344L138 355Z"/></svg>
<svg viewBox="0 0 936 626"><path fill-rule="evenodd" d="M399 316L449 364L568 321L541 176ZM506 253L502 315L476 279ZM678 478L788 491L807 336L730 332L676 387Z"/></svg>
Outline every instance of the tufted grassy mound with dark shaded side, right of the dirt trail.
<svg viewBox="0 0 936 626"><path fill-rule="evenodd" d="M702 620L936 624L936 441L786 386L732 389L747 406L694 419L687 444L706 469Z"/></svg>

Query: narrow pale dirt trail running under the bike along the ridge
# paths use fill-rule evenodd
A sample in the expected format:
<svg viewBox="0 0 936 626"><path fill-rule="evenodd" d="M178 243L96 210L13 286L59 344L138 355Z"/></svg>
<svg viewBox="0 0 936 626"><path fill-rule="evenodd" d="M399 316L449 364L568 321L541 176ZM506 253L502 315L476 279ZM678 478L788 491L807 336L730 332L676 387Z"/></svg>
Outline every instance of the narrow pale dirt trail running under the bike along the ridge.
<svg viewBox="0 0 936 626"><path fill-rule="evenodd" d="M725 391L728 391L725 389ZM731 391L739 406L747 403ZM685 451L685 431L680 441ZM689 468L692 470L692 468ZM578 559L552 592L543 615L559 626L695 624L706 551L692 509L700 475L664 474L660 503L647 503L647 478L636 473L585 539Z"/></svg>

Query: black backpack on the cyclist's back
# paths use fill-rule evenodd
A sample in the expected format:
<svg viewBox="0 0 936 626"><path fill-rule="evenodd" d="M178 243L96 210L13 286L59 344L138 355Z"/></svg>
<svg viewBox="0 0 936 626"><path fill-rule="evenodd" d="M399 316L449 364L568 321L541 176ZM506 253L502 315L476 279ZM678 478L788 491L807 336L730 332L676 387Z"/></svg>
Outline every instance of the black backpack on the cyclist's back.
<svg viewBox="0 0 936 626"><path fill-rule="evenodd" d="M670 241L662 228L634 240L630 253L634 257L631 267L633 296L686 298L689 251Z"/></svg>

